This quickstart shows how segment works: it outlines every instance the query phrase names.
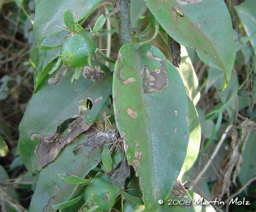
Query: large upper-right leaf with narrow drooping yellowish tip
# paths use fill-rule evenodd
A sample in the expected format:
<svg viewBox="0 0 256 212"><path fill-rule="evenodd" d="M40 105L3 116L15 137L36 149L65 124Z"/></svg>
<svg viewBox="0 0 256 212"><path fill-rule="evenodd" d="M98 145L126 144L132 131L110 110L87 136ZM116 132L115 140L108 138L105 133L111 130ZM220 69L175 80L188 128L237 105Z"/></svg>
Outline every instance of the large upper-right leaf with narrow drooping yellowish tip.
<svg viewBox="0 0 256 212"><path fill-rule="evenodd" d="M204 63L225 73L222 87L225 89L236 55L231 18L225 2L202 0L199 3L185 5L177 2L181 1L148 0L147 6L176 42L196 48L199 58ZM183 16L177 16L176 11L183 13Z"/></svg>

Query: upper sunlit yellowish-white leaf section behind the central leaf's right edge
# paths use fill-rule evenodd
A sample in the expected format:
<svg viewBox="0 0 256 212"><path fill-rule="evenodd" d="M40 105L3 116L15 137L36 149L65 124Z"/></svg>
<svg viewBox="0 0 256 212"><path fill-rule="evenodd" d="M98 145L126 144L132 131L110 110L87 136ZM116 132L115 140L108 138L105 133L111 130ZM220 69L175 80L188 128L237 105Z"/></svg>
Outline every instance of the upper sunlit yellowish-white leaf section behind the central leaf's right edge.
<svg viewBox="0 0 256 212"><path fill-rule="evenodd" d="M181 64L180 67L177 68L177 70L180 72L181 78L186 88L187 95L192 100L194 105L196 105L200 99L200 93L197 91L198 80L191 59L189 58L188 52L184 46L181 46L180 56Z"/></svg>

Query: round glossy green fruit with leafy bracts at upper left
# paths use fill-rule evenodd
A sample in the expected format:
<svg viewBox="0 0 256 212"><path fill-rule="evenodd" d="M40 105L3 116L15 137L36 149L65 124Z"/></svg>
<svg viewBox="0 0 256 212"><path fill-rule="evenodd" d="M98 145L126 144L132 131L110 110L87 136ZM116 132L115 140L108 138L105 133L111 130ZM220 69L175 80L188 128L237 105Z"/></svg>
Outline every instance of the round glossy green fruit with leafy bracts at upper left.
<svg viewBox="0 0 256 212"><path fill-rule="evenodd" d="M90 32L79 31L68 35L60 48L60 59L71 67L84 66L88 55L93 55L97 46Z"/></svg>

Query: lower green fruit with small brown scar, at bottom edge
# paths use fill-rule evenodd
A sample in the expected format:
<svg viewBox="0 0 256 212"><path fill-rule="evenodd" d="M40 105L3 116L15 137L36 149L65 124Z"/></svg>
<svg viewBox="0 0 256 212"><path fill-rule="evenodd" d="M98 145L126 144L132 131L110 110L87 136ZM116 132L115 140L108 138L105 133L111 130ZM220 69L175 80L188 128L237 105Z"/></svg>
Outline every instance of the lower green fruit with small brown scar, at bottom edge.
<svg viewBox="0 0 256 212"><path fill-rule="evenodd" d="M91 193L95 193L94 201L99 204L99 208L96 211L105 211L113 207L120 191L119 186L115 186L99 177L93 177L84 189L83 197L84 201L86 201Z"/></svg>

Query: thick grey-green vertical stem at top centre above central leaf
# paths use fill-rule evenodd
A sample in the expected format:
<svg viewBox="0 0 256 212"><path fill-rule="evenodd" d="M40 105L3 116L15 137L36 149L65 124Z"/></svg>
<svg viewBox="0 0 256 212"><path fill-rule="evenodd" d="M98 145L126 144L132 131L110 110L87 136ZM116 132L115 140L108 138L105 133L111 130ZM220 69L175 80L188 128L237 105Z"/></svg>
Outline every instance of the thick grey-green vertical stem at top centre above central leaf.
<svg viewBox="0 0 256 212"><path fill-rule="evenodd" d="M132 42L130 0L116 0L120 46Z"/></svg>

